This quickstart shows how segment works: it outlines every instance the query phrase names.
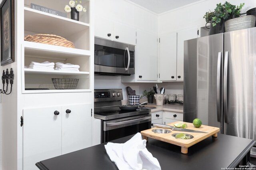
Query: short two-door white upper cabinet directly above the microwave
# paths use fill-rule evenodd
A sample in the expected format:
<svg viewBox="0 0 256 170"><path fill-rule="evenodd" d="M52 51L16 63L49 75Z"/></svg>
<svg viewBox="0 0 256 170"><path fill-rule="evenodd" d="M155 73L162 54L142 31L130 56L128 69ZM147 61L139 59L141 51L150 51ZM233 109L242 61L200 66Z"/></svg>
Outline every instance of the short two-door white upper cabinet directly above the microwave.
<svg viewBox="0 0 256 170"><path fill-rule="evenodd" d="M100 17L95 18L96 37L136 45L136 30L130 26L105 20Z"/></svg>

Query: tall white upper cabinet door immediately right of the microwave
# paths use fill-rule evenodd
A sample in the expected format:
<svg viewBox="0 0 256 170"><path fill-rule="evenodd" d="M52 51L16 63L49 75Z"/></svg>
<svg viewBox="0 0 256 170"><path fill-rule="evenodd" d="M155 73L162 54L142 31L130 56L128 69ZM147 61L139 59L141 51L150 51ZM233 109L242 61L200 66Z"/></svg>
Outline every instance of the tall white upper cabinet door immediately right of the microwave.
<svg viewBox="0 0 256 170"><path fill-rule="evenodd" d="M157 80L157 36L137 31L137 80Z"/></svg>

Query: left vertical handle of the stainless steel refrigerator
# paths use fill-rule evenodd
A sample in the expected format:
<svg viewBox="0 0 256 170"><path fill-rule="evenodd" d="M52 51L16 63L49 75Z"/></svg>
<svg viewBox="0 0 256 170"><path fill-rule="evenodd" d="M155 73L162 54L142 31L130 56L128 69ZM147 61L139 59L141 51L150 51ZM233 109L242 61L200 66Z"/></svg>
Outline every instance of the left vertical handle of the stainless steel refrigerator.
<svg viewBox="0 0 256 170"><path fill-rule="evenodd" d="M221 69L221 60L222 60L222 53L218 53L218 61L217 61L217 96L216 96L216 104L217 104L217 121L220 122L220 105L221 105L221 94L220 94L220 88L221 88L221 79L222 79L222 69Z"/></svg>

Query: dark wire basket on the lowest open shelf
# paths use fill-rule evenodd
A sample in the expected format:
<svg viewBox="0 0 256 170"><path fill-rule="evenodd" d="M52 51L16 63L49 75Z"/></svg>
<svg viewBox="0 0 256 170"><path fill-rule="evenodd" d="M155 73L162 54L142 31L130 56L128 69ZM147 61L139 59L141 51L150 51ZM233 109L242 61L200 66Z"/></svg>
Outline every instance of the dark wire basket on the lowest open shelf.
<svg viewBox="0 0 256 170"><path fill-rule="evenodd" d="M52 78L55 89L76 89L79 79Z"/></svg>

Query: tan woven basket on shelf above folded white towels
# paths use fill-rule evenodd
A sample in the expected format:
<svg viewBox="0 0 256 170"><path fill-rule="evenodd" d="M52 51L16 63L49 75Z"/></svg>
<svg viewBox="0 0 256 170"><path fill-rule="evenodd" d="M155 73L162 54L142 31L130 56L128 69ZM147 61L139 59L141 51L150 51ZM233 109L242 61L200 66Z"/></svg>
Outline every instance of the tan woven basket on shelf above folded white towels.
<svg viewBox="0 0 256 170"><path fill-rule="evenodd" d="M75 48L74 43L68 41L66 38L52 34L36 34L34 36L28 35L24 37L24 40L28 42L46 43L50 45Z"/></svg>

